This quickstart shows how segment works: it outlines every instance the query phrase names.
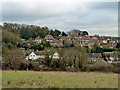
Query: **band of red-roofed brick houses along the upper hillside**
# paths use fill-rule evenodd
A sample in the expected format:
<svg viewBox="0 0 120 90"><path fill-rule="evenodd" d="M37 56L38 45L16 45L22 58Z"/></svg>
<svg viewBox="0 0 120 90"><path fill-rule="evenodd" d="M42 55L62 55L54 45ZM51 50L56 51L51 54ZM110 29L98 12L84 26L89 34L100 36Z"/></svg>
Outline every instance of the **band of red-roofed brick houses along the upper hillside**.
<svg viewBox="0 0 120 90"><path fill-rule="evenodd" d="M61 36L59 40L56 40L52 35L46 35L44 40L49 41L51 46L64 46L64 42L69 42L70 44L79 45L79 46L89 46L92 47L95 43L101 46L102 48L111 47L114 48L117 45L116 41L109 40L99 40L97 37L79 36L75 38L74 36ZM35 39L35 41L41 43L41 39Z"/></svg>

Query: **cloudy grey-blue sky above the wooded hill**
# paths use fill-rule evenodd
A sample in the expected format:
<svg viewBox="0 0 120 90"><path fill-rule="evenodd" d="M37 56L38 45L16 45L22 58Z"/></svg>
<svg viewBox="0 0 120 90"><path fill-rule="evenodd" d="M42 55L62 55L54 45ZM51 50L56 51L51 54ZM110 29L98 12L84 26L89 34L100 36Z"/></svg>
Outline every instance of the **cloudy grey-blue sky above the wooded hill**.
<svg viewBox="0 0 120 90"><path fill-rule="evenodd" d="M86 30L90 35L118 35L118 2L81 0L13 0L0 3L3 22Z"/></svg>

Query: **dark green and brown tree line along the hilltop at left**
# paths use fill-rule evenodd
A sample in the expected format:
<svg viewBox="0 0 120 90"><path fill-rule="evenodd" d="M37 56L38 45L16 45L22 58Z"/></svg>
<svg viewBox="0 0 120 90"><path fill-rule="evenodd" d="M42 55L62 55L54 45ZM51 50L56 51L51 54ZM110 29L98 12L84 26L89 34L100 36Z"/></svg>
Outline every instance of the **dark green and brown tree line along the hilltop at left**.
<svg viewBox="0 0 120 90"><path fill-rule="evenodd" d="M25 25L25 24L17 24L17 23L4 23L3 28L13 32L20 36L22 39L30 39L30 38L36 38L40 36L41 38L44 38L47 34L53 35L54 38L58 38L60 34L63 36L66 36L67 34L65 32L61 32L58 29L49 29L47 26L40 27L36 25Z"/></svg>

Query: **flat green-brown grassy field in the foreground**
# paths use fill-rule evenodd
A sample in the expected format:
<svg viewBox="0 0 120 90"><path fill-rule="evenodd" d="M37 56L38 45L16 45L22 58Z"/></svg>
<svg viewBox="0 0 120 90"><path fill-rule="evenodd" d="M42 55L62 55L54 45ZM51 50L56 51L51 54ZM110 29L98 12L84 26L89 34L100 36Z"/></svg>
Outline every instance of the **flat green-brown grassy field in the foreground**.
<svg viewBox="0 0 120 90"><path fill-rule="evenodd" d="M117 88L118 74L3 71L3 88Z"/></svg>

